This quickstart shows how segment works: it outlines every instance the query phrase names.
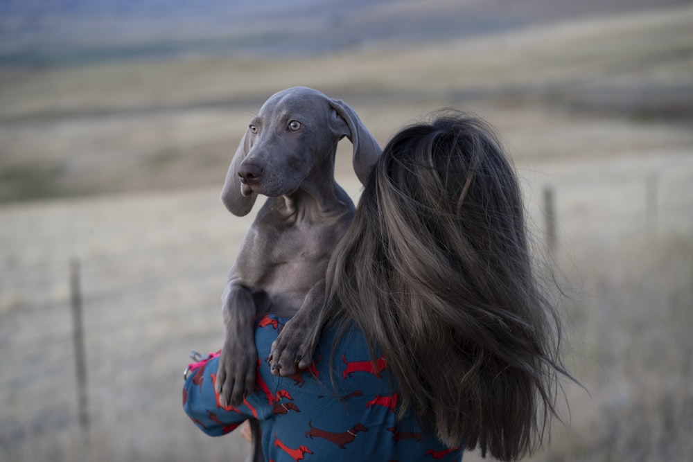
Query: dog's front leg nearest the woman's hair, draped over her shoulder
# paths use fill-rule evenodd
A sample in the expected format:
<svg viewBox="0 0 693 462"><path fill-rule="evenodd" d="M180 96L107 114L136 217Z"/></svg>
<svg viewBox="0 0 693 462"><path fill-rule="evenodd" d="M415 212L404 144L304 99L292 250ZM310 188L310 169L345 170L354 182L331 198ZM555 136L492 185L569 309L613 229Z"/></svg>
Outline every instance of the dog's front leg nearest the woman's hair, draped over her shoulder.
<svg viewBox="0 0 693 462"><path fill-rule="evenodd" d="M325 300L325 280L321 279L306 295L301 308L287 321L272 342L270 369L274 375L292 375L296 369L313 364L313 351L320 336L320 312Z"/></svg>

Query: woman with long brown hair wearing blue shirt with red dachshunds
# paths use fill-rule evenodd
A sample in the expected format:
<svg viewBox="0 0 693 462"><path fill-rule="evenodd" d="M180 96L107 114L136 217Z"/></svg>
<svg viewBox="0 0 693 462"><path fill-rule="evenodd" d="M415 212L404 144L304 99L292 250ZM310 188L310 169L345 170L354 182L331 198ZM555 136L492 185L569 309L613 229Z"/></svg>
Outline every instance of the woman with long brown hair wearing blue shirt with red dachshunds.
<svg viewBox="0 0 693 462"><path fill-rule="evenodd" d="M269 392L215 418L231 426L258 418L273 461L532 452L567 373L559 318L527 241L518 179L489 127L447 113L405 128L383 150L333 253L316 323L317 380L300 375L310 388L297 380L291 389L261 364L258 383ZM268 332L256 331L261 357L276 337ZM211 392L187 390L188 414L209 416L190 403ZM297 396L300 414L286 408ZM272 414L275 405L286 413ZM333 441L340 433L349 443ZM315 441L325 443L320 454Z"/></svg>

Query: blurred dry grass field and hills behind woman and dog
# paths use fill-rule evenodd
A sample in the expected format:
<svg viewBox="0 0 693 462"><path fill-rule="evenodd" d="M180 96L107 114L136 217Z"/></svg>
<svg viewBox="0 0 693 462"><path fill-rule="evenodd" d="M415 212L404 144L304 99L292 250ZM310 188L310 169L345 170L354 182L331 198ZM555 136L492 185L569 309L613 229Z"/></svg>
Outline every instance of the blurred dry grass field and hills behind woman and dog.
<svg viewBox="0 0 693 462"><path fill-rule="evenodd" d="M500 132L584 385L529 460L693 459L692 1L3 0L1 460L243 460L182 371L252 220L228 163L295 85L383 145L441 107Z"/></svg>

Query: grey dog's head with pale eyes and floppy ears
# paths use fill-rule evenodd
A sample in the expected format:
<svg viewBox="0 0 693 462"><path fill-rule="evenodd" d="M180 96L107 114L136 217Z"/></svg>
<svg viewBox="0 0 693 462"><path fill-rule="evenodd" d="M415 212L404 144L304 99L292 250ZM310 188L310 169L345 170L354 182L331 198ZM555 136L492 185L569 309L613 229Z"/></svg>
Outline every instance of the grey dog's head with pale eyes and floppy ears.
<svg viewBox="0 0 693 462"><path fill-rule="evenodd" d="M380 156L380 146L340 100L317 90L279 91L250 121L227 172L221 199L234 215L249 213L258 194L294 193L306 178L334 175L337 141L353 144L353 166L365 183Z"/></svg>

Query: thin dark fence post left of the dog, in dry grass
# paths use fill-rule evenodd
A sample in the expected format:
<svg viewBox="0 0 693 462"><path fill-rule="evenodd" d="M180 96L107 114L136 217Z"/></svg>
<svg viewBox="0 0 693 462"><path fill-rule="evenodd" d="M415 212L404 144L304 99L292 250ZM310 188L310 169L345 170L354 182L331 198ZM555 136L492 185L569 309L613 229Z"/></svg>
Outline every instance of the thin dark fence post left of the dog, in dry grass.
<svg viewBox="0 0 693 462"><path fill-rule="evenodd" d="M75 371L77 378L77 414L80 427L89 434L89 402L87 396L87 362L85 359L84 323L82 321L82 292L80 289L79 260L70 261L70 288L72 301L72 332L75 345Z"/></svg>

